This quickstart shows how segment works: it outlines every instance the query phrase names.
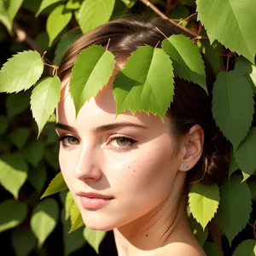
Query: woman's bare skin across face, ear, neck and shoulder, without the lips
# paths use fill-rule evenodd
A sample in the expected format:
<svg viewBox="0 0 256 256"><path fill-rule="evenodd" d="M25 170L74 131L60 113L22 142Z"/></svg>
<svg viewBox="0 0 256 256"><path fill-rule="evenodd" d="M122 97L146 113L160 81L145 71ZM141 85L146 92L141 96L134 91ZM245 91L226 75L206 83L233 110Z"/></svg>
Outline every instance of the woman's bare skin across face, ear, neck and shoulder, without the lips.
<svg viewBox="0 0 256 256"><path fill-rule="evenodd" d="M84 224L113 230L121 256L206 255L190 230L183 194L186 173L201 157L201 126L193 126L177 145L167 116L164 122L143 112L116 117L113 79L85 102L77 118L69 77L62 81L57 123L68 127L56 129L62 137L59 160ZM96 129L110 124L115 127ZM113 200L98 210L84 209L79 191Z"/></svg>

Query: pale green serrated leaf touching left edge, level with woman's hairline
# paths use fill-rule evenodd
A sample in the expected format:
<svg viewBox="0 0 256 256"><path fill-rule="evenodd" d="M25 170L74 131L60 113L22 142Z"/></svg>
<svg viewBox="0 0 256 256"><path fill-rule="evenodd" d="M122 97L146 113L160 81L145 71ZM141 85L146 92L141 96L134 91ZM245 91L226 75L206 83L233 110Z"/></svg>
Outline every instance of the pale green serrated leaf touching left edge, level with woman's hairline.
<svg viewBox="0 0 256 256"><path fill-rule="evenodd" d="M0 71L0 92L27 90L41 77L44 62L37 51L24 50L13 55Z"/></svg>

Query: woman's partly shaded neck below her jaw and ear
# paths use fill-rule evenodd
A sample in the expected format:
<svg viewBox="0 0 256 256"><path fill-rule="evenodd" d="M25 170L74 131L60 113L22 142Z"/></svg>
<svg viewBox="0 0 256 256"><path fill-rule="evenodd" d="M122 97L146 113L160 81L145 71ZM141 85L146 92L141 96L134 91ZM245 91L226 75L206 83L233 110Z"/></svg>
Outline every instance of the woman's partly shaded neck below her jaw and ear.
<svg viewBox="0 0 256 256"><path fill-rule="evenodd" d="M113 230L119 256L156 255L172 241L193 237L186 213L187 195L183 194L184 177L177 172L170 195L158 207Z"/></svg>

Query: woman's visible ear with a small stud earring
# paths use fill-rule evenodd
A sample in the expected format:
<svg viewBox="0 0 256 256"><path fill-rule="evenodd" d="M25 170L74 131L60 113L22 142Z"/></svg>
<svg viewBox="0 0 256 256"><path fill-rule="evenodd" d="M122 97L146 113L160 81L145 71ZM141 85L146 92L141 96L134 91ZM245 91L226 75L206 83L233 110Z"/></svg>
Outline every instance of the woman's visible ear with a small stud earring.
<svg viewBox="0 0 256 256"><path fill-rule="evenodd" d="M182 154L182 163L180 171L189 171L196 165L201 158L203 151L205 133L201 125L194 125L190 128L188 134L183 137L180 153ZM187 168L186 168L187 167Z"/></svg>

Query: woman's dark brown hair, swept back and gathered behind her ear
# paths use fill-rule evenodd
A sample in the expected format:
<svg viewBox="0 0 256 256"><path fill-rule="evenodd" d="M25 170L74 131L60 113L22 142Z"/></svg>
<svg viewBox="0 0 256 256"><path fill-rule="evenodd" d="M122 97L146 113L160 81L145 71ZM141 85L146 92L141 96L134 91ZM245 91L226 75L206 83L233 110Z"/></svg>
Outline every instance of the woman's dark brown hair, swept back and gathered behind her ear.
<svg viewBox="0 0 256 256"><path fill-rule="evenodd" d="M167 20L154 19L148 22L137 18L112 20L98 26L77 39L67 50L59 67L59 77L71 72L79 53L91 44L106 47L110 38L109 50L116 61L124 61L138 46L144 44L155 47L165 37L155 29L158 27L167 37L177 33ZM160 47L160 44L158 44ZM175 90L171 107L167 114L174 120L177 137L182 137L197 124L205 132L203 153L198 163L189 170L186 182L204 184L222 183L230 164L230 143L228 143L212 119L212 69L206 62L207 88L209 95L198 84L175 78Z"/></svg>

